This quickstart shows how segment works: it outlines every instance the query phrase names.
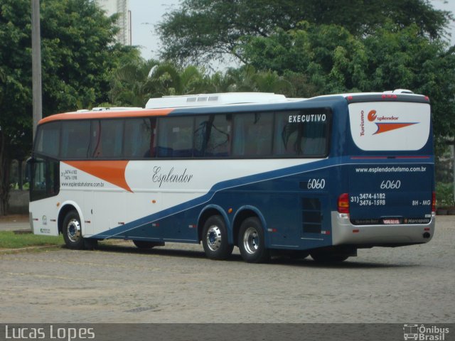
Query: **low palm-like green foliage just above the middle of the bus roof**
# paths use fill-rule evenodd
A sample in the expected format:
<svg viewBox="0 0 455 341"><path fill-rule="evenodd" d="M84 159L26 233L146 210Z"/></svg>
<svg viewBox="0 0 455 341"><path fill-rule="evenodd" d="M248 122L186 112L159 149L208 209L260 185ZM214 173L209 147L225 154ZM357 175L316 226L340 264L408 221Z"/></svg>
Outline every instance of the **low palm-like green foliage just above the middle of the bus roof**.
<svg viewBox="0 0 455 341"><path fill-rule="evenodd" d="M300 78L298 78L300 80ZM119 67L109 92L114 106L144 107L151 97L213 92L275 92L295 97L294 85L277 72L244 66L210 75L204 68L157 60L132 60Z"/></svg>

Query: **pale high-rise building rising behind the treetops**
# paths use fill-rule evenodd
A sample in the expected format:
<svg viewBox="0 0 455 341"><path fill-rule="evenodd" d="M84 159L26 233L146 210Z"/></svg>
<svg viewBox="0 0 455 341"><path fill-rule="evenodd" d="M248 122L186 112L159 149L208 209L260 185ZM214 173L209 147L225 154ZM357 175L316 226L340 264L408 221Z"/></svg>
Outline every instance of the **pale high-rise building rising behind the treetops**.
<svg viewBox="0 0 455 341"><path fill-rule="evenodd" d="M131 43L131 11L129 11L128 0L95 0L102 9L106 11L107 16L119 13L117 26L117 41L123 45L132 45Z"/></svg>

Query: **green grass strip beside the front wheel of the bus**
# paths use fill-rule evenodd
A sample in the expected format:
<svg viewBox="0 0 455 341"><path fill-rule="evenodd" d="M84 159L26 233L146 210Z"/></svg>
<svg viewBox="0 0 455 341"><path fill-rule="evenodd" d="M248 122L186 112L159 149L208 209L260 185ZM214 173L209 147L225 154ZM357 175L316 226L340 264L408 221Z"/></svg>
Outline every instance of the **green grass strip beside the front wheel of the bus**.
<svg viewBox="0 0 455 341"><path fill-rule="evenodd" d="M63 245L63 237L36 236L31 233L0 232L1 249L21 249L23 247L44 247Z"/></svg>

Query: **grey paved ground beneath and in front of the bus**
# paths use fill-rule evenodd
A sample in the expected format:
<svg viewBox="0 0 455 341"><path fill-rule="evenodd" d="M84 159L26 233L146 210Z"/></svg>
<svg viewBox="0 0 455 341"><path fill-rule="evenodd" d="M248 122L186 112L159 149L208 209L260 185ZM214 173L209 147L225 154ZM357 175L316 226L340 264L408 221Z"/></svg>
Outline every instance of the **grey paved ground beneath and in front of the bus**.
<svg viewBox="0 0 455 341"><path fill-rule="evenodd" d="M8 323L454 323L455 217L432 242L311 259L210 261L200 245L0 254ZM1 252L0 252L1 253Z"/></svg>

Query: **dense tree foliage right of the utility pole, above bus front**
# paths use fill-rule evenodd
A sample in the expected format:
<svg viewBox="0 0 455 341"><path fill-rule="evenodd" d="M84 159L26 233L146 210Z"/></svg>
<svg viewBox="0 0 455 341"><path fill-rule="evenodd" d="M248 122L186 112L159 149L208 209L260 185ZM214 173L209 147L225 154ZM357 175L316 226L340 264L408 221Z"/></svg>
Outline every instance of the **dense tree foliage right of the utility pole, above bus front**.
<svg viewBox="0 0 455 341"><path fill-rule="evenodd" d="M88 0L42 0L41 17L43 116L106 102L112 72L129 53L114 43L116 18Z"/></svg>

